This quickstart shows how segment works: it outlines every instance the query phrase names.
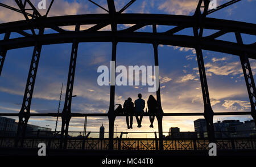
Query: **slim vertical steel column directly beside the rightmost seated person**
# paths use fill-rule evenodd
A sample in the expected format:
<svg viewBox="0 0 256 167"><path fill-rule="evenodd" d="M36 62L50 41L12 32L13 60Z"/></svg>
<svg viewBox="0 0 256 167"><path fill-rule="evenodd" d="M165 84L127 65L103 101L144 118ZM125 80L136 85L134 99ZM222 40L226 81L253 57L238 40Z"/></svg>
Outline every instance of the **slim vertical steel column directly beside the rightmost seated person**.
<svg viewBox="0 0 256 167"><path fill-rule="evenodd" d="M156 32L156 25L153 25L153 33ZM154 47L154 59L155 59L155 66L159 66L158 62L158 44L154 41L153 43ZM159 75L160 76L160 75ZM158 119L158 135L159 135L159 149L163 150L163 109L161 104L161 93L160 93L160 81L158 79L158 90L156 91L156 100L158 102L158 112L156 114L156 118Z"/></svg>

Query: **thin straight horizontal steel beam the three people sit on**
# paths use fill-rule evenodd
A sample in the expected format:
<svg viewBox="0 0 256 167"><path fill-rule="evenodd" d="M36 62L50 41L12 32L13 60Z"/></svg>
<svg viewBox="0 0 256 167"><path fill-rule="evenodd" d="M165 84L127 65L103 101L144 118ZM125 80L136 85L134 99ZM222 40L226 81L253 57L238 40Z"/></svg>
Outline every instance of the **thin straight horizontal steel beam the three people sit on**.
<svg viewBox="0 0 256 167"><path fill-rule="evenodd" d="M221 112L221 113L214 113L214 115L250 115L250 112ZM0 113L0 116L5 117L15 117L18 116L18 113ZM150 114L144 113L144 114L133 114L133 116L136 115L143 115L143 116L149 116ZM204 113L164 113L163 116L203 116ZM61 113L31 113L31 117L61 117ZM104 113L71 113L72 117L108 117L108 114ZM116 115L118 117L126 117L126 115L118 114Z"/></svg>

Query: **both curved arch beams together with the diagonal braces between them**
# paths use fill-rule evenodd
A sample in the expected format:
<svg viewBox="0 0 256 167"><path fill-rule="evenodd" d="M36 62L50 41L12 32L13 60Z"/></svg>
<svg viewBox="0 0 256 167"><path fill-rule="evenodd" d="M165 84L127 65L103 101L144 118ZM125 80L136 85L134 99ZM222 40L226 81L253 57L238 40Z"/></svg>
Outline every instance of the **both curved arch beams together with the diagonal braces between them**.
<svg viewBox="0 0 256 167"><path fill-rule="evenodd" d="M52 35L43 35L40 38L43 42L43 45L47 44L58 44L63 42L72 42L74 37L82 37L83 39L79 42L86 42L86 41L112 41L112 32L96 32L98 29L105 27L108 24L112 24L115 22L116 24L135 24L131 28L127 28L123 31L118 31L118 35L120 35L120 40L123 42L146 42L151 43L153 40L147 39L146 36L155 36L155 39L159 44L167 44L167 45L175 45L188 48L195 48L195 38L193 39L192 36L182 36L182 35L170 35L174 32L178 32L183 28L186 27L195 27L195 23L198 22L193 16L179 16L179 15L156 15L156 14L112 14L109 17L109 14L94 14L94 15L77 15L77 16L59 16L59 17L52 17L52 18L38 18L34 20L28 21L20 21L20 22L13 22L13 23L4 23L0 25L0 32L5 32L6 29L10 29L10 31L18 32L26 37L23 38L15 38L9 41L0 41L0 46L3 46L7 49L14 49L14 48L22 48L26 46L31 46L32 42L35 40L33 37L28 35L24 32L26 29L32 28L39 28L39 27L48 27L52 28L55 31L61 32L60 34L52 34ZM58 26L64 25L73 25L73 24L96 24L94 27L89 28L82 32L72 33L68 31L64 31L63 29L59 28ZM227 32L240 32L240 33L247 33L250 35L256 34L256 25L250 23L242 23L242 22L234 22L229 20L221 20L221 19L213 19L213 18L204 18L204 24L196 25L197 27L208 28L208 29L218 29L219 33L214 33L211 36L203 37L200 39L202 49L205 50L213 50L217 52L224 52L229 54L236 54L241 55L241 52L237 52L237 48L241 48L240 46L234 45L233 42L226 42L220 40L213 40L214 38L224 35ZM171 29L167 32L157 33L156 35L152 35L152 33L141 33L138 32L131 32L143 27L143 25L179 25L178 27ZM197 23L198 24L198 23ZM88 33L86 33L88 31ZM130 33L129 33L130 32ZM171 32L171 33L170 33ZM79 34L78 34L79 33ZM127 33L127 37L126 36ZM143 38L143 35L144 38ZM168 36L170 35L170 36ZM90 39L86 40L86 36ZM100 37L101 36L101 37ZM136 39L132 40L129 39L131 36L137 36ZM166 37L166 39L164 39ZM54 38L54 40L53 40ZM97 39L98 38L98 39ZM105 38L105 39L104 39ZM126 38L126 39L125 39ZM168 41L167 40L170 40ZM118 38L117 38L118 40ZM175 41L177 40L177 41ZM180 42L179 40L183 40ZM190 41L190 42L186 42ZM200 42L196 41L196 42ZM203 46L206 42L210 42L208 46ZM186 44L187 45L184 45ZM206 44L207 45L207 44ZM232 48L228 46L232 46ZM255 47L254 45L242 45L245 46L248 50L246 52L250 58L255 58L254 54ZM233 50L236 49L236 50ZM241 50L240 50L241 51Z"/></svg>

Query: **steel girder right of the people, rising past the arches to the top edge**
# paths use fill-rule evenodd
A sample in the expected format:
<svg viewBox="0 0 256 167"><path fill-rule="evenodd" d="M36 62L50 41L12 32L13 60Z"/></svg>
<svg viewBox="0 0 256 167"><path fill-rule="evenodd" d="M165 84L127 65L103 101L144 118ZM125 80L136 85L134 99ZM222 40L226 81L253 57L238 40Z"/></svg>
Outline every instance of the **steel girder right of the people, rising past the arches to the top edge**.
<svg viewBox="0 0 256 167"><path fill-rule="evenodd" d="M193 27L193 33L196 38L202 38L203 36L203 20L205 19L209 7L209 1L204 0L204 11L203 14L201 14L201 4L203 0L199 1L199 4L197 5L197 9L195 12L195 18L197 18L197 26L200 27L200 31L198 32L197 27ZM200 75L200 82L201 82L201 89L203 94L203 101L204 101L204 118L207 124L207 134L210 142L214 142L214 126L213 126L213 110L212 106L210 105L210 97L209 97L209 90L208 90L208 84L207 84L207 76L205 72L205 66L204 66L204 57L203 52L200 45L196 46L196 56L197 56L197 63L199 67L199 75Z"/></svg>

